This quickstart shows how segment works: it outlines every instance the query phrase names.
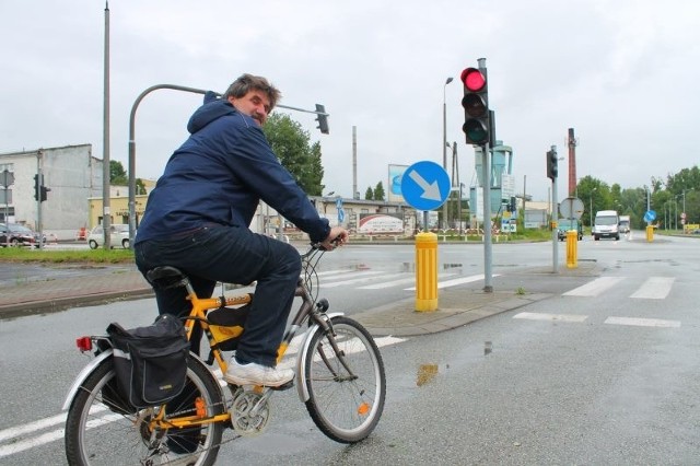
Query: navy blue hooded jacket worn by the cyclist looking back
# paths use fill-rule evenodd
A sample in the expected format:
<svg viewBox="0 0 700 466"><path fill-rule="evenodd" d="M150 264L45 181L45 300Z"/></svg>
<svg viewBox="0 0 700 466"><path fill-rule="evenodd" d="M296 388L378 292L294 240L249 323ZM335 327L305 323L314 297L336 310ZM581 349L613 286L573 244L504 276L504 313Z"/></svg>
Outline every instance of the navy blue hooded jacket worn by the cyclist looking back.
<svg viewBox="0 0 700 466"><path fill-rule="evenodd" d="M137 244L207 223L248 228L260 199L313 242L328 236L328 220L318 217L253 118L207 93L187 130L190 137L173 153L149 196Z"/></svg>

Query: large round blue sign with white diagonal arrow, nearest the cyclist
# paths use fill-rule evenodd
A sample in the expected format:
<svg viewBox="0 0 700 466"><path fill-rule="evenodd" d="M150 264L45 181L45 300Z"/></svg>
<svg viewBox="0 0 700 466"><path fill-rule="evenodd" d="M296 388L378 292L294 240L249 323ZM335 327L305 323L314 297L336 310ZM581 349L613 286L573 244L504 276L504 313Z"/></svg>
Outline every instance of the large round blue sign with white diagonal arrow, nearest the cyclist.
<svg viewBox="0 0 700 466"><path fill-rule="evenodd" d="M450 196L450 176L435 162L417 162L404 172L401 196L417 210L436 209Z"/></svg>

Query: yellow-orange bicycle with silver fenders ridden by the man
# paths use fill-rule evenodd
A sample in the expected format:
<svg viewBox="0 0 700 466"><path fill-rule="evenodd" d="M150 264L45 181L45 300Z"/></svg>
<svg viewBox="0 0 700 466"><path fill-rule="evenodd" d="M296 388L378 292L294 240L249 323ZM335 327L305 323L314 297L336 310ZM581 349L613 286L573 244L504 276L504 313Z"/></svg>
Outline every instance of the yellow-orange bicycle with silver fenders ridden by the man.
<svg viewBox="0 0 700 466"><path fill-rule="evenodd" d="M328 314L328 301L316 301L315 270L323 254L315 245L301 256L303 271L295 293L301 305L284 331L278 363L283 362L294 337L306 327L295 361L299 396L325 435L340 443L357 443L372 433L382 416L386 395L384 362L372 336L360 323L340 313ZM254 293L202 299L174 267L151 270L149 280L156 286L186 288L192 305L185 317L187 338L191 337L192 323L199 323L209 341L209 359L205 362L190 353L183 393L165 405L136 409L113 388L109 337L78 338L78 348L83 353L94 352L94 359L80 372L63 404L63 410L68 410L66 455L71 465L156 465L175 457L177 464L211 465L222 443L261 433L271 415L270 396L294 383L278 388L235 386L220 382L208 366L215 362L225 373L222 339L236 337L244 328L241 322L215 325L208 315L222 308L241 314ZM230 396L224 396L224 385ZM224 429L235 433L222 442ZM186 453L186 463L180 463L183 456L176 455L177 450L194 452Z"/></svg>

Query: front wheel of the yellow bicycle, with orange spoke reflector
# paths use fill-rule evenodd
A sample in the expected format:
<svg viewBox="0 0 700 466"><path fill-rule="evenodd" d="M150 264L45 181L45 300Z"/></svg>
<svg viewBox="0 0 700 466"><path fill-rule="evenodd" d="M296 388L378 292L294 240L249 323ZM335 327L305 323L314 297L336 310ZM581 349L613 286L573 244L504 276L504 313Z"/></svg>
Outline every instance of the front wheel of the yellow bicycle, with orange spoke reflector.
<svg viewBox="0 0 700 466"><path fill-rule="evenodd" d="M358 322L336 316L331 319L335 341L355 375L348 374L320 328L312 337L304 361L310 397L306 409L318 429L340 443L357 443L376 427L386 396L382 354L370 333ZM336 375L334 375L334 371Z"/></svg>

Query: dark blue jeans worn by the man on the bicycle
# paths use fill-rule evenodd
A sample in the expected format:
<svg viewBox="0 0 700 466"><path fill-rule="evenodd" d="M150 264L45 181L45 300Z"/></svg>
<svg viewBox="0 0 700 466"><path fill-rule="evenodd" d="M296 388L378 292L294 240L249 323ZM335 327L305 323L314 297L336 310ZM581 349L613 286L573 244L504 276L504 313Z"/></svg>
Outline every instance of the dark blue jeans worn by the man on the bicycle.
<svg viewBox="0 0 700 466"><path fill-rule="evenodd" d="M277 349L302 268L293 246L247 228L209 224L168 238L137 243L135 256L144 277L148 270L159 266L180 269L200 298L210 298L218 281L248 284L257 280L236 359L241 363L277 364ZM179 317L188 315L191 305L185 300L186 295L182 287L155 289L159 312ZM192 334L192 345L197 345L194 349L198 349L200 338L198 328L197 335Z"/></svg>

